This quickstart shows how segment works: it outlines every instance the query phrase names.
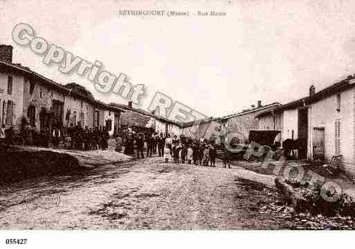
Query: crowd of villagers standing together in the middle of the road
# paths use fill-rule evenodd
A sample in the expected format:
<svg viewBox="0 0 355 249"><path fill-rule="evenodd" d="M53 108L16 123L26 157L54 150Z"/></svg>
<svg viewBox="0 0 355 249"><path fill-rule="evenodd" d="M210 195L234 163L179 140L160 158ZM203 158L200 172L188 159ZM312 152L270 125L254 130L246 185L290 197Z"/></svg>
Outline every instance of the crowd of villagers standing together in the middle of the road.
<svg viewBox="0 0 355 249"><path fill-rule="evenodd" d="M116 151L121 151L120 145L122 139L116 138ZM156 132L143 134L129 134L124 153L127 155L136 155L137 158L144 158L146 144L146 157L158 155L163 157L165 162L199 164L203 166L215 166L217 157L217 148L213 141L207 139L192 139L191 137L179 138L168 134L166 137Z"/></svg>

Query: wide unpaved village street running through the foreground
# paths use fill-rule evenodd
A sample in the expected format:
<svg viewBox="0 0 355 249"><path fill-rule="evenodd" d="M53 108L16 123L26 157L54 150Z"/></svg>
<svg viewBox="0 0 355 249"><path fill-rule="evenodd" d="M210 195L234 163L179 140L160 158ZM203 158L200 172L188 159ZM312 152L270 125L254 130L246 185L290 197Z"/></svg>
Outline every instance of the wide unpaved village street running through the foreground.
<svg viewBox="0 0 355 249"><path fill-rule="evenodd" d="M245 179L239 178L242 176ZM263 182L260 184L251 180ZM293 223L260 207L273 178L163 163L161 157L1 186L0 227L18 229L277 229Z"/></svg>

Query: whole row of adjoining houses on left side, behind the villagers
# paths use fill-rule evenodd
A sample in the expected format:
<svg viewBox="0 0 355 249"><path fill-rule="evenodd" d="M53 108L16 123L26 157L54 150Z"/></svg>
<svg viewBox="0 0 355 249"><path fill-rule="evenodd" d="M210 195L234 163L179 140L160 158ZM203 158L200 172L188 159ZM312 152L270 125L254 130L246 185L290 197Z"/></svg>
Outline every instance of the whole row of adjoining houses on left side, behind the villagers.
<svg viewBox="0 0 355 249"><path fill-rule="evenodd" d="M81 85L61 85L28 67L12 63L12 46L0 45L1 125L19 125L21 118L26 117L37 130L60 126L65 131L71 125L83 128L108 125L113 135L121 112L120 108L95 100Z"/></svg>

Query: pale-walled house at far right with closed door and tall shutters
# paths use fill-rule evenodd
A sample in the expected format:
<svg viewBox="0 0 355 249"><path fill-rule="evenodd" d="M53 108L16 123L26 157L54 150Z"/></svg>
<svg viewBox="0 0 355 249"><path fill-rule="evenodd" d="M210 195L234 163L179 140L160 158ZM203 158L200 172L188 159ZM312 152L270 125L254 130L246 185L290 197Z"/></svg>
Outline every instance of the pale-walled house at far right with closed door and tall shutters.
<svg viewBox="0 0 355 249"><path fill-rule="evenodd" d="M355 76L308 98L308 156L331 160L343 155L345 170L355 175Z"/></svg>

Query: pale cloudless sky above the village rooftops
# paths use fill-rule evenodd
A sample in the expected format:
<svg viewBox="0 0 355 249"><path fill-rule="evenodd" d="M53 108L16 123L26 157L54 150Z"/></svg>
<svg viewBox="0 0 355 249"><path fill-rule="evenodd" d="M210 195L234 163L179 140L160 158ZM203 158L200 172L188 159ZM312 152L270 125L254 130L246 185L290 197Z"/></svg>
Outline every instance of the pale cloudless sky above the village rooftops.
<svg viewBox="0 0 355 249"><path fill-rule="evenodd" d="M118 10L189 11L189 17L118 17ZM226 12L199 17L197 11ZM30 24L36 35L104 69L144 84L138 108L156 91L206 116L256 105L287 103L355 74L355 1L91 1L0 0L0 44L13 61L59 83L76 82L106 103L87 78L62 74L12 29Z"/></svg>

